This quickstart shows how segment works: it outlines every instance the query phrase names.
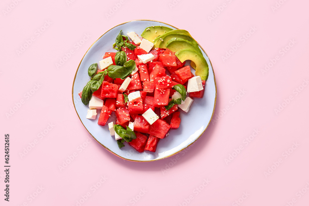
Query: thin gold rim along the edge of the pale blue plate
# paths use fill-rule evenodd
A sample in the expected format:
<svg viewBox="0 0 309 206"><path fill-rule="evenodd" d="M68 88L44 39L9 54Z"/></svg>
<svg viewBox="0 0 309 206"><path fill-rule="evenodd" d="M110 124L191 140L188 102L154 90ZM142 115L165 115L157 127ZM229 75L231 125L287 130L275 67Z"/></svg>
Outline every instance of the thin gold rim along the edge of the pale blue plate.
<svg viewBox="0 0 309 206"><path fill-rule="evenodd" d="M123 25L123 24L125 24L125 23L133 22L133 21L152 21L152 22L164 23L164 22L161 22L161 21L150 20L150 19L136 19L136 20L131 20L131 21L127 21L127 22L118 24L118 25L112 27L111 29L109 29L107 32L109 32L110 30L112 30L112 29L115 28L115 27L118 27L118 26ZM171 27L174 27L174 26L172 26L171 24L168 24L168 23L164 23L164 24L166 24L166 25L168 25L168 26L171 26ZM178 29L177 27L174 27L174 28ZM104 34L106 34L107 32L105 32ZM103 34L102 36L104 36L104 34ZM102 36L100 36L95 42L97 42ZM195 39L194 39L194 40L195 40ZM95 42L94 42L93 44L95 44ZM93 44L91 44L91 46L88 48L88 50L87 50L86 53L84 54L82 60L79 62L78 68L77 68L76 73L75 73L75 76L74 76L73 86L72 86L72 101L73 101L74 109L75 109L76 114L77 114L77 116L78 116L78 118L79 118L79 120L81 121L82 124L83 124L83 122L82 122L82 120L80 119L80 117L79 117L79 115L78 115L78 112L77 112L77 110L76 110L75 103L74 103L74 83L75 83L75 79L76 79L76 75L77 75L79 66L80 66L80 64L82 63L82 61L83 61L85 55L87 54L87 52L89 51L89 49L93 46ZM197 44L201 47L201 45L200 45L198 42L197 42ZM201 49L203 50L203 52L206 54L207 58L209 59L209 62L210 62L210 65L211 65L211 68L212 68L213 74L214 74L214 67L212 66L212 63L211 63L211 61L210 61L210 58L208 57L207 53L205 52L205 50L204 50L202 47L201 47ZM213 113L212 113L212 115L211 115L211 118L210 118L209 123L207 124L207 127L206 127L206 128L204 129L204 131L196 138L195 141L197 141L197 139L199 139L199 138L202 136L202 134L203 134L203 133L205 132L205 130L208 128L208 126L209 126L209 124L210 124L210 122L211 122L211 120L212 120L212 118L213 118L213 116L214 116L214 111L215 111L216 103L217 103L217 83L216 83L216 77L215 77L215 75L214 75L214 85L215 85L215 88L216 88L216 96L215 96L215 100L214 100L214 110L213 110ZM85 127L84 124L83 124L83 126ZM85 127L85 128L86 128L86 127ZM86 128L86 130L88 131L87 128ZM88 131L88 132L89 132L89 131ZM89 132L89 134L93 137L93 135L92 135L90 132ZM184 149L186 149L187 147L189 147L190 145L192 145L192 144L195 142L195 141L193 141L190 145L184 147L183 149L181 149L181 150L179 150L179 151L177 151L177 152L175 152L175 153L173 153L173 154L171 154L171 155L169 155L169 156L167 156L167 157L163 157L163 158L159 158L159 159L154 159L154 160L145 160L145 161L142 161L142 160L131 160L131 159L127 159L127 158L121 157L121 156L117 155L116 153L114 153L112 150L108 149L108 147L106 147L106 146L104 146L103 144L101 144L95 137L93 137L93 138L95 139L95 141L97 141L100 145L102 145L105 149L107 149L107 150L108 150L109 152L111 152L112 154L116 155L117 157L120 157L121 159L125 159L125 160L131 161L131 162L153 162L153 161L157 161L157 160L169 158L169 157L171 157L171 156L173 156L173 155L175 155L175 154L177 154L177 153L183 151Z"/></svg>

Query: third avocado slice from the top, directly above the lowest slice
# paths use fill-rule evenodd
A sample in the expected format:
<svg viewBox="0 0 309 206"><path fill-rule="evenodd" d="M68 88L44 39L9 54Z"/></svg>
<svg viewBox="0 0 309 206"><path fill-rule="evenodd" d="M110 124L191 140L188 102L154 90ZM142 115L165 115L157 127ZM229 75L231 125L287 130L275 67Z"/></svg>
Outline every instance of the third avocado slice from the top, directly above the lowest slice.
<svg viewBox="0 0 309 206"><path fill-rule="evenodd" d="M165 46L174 53L179 51L180 49L188 48L196 50L197 52L202 54L201 49L199 47L196 47L196 45L193 44L191 41L182 38L171 38L170 40L167 41Z"/></svg>

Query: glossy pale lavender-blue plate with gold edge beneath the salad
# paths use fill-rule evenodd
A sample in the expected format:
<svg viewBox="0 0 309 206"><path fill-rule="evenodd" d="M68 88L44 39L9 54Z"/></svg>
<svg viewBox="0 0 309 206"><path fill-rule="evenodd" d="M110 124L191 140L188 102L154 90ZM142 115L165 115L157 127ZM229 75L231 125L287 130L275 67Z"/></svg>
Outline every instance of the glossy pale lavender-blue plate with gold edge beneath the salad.
<svg viewBox="0 0 309 206"><path fill-rule="evenodd" d="M123 31L123 35L132 31L136 32L138 35L141 35L146 27L160 25L177 29L176 27L159 21L134 20L122 23L108 30L88 49L78 66L73 82L72 97L74 107L79 119L87 131L108 151L129 161L155 161L170 157L182 151L201 137L214 114L217 98L216 80L211 62L205 51L200 46L203 56L209 65L209 77L206 81L204 97L201 99L194 98L193 104L191 105L188 113L185 113L179 109L181 118L180 127L178 129L170 129L169 136L164 139L160 139L155 152L145 150L144 152L139 153L128 143L125 143L125 147L119 149L115 138L111 137L109 134L108 125L103 127L97 124L100 114L99 110L97 111L98 115L96 120L86 119L88 106L85 106L82 103L78 93L83 90L83 87L90 80L87 73L88 67L93 63L99 63L105 52L116 52L116 50L112 48L112 44L115 43L116 36L119 34L120 30ZM108 119L108 122L115 120L115 112L112 112L112 116Z"/></svg>

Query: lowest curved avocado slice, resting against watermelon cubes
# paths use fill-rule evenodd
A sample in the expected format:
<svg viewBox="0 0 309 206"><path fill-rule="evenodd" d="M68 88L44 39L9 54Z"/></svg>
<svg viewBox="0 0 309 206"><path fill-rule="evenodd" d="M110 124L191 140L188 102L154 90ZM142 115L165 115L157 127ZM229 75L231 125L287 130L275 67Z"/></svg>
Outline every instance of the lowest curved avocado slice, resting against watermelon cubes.
<svg viewBox="0 0 309 206"><path fill-rule="evenodd" d="M202 80L207 80L209 68L203 55L192 49L181 49L175 55L181 62L193 61L196 65L195 75L199 75Z"/></svg>

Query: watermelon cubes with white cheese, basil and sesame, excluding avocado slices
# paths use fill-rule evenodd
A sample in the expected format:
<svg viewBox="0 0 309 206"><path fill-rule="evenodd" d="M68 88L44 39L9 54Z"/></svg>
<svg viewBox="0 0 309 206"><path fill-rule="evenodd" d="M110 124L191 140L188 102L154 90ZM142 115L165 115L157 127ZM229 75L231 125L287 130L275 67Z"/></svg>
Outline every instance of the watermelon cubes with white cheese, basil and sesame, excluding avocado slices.
<svg viewBox="0 0 309 206"><path fill-rule="evenodd" d="M128 142L138 152L155 152L158 141L180 127L194 98L203 98L205 80L169 48L121 32L111 45L117 51L90 65L90 81L79 95L89 106L86 118L108 127L119 148Z"/></svg>

